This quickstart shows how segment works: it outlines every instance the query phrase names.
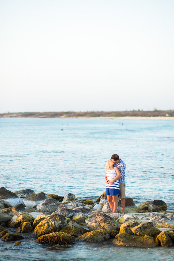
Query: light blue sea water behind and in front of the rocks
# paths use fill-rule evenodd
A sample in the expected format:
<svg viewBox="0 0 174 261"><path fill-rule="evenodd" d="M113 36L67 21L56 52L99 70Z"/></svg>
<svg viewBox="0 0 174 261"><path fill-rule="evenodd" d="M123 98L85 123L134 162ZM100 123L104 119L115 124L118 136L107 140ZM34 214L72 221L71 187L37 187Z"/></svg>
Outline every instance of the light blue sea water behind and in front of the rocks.
<svg viewBox="0 0 174 261"><path fill-rule="evenodd" d="M174 210L173 148L173 120L0 118L0 186L95 200L105 191L106 161L117 153L127 166L126 196L137 206L161 199ZM4 255L16 255L11 243L2 244ZM19 249L18 260L139 260L140 253L142 260L173 260L174 251L111 243L40 246L32 240Z"/></svg>

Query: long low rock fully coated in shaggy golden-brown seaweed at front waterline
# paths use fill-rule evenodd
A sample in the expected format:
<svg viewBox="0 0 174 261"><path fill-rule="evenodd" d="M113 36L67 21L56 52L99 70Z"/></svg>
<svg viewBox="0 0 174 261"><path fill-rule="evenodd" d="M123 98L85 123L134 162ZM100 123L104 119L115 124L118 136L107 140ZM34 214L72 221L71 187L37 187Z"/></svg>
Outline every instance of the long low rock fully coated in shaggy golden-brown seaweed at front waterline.
<svg viewBox="0 0 174 261"><path fill-rule="evenodd" d="M35 240L37 243L52 243L52 244L70 244L75 241L75 237L67 235L63 232L53 232L47 235L42 235Z"/></svg>

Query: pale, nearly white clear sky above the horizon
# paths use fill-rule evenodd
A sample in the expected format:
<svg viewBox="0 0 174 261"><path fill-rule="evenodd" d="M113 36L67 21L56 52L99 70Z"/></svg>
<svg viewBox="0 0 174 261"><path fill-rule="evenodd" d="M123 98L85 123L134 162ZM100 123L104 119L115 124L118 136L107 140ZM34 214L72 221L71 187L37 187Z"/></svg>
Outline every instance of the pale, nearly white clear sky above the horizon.
<svg viewBox="0 0 174 261"><path fill-rule="evenodd" d="M0 0L0 113L174 110L173 0Z"/></svg>

